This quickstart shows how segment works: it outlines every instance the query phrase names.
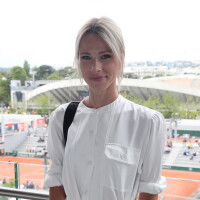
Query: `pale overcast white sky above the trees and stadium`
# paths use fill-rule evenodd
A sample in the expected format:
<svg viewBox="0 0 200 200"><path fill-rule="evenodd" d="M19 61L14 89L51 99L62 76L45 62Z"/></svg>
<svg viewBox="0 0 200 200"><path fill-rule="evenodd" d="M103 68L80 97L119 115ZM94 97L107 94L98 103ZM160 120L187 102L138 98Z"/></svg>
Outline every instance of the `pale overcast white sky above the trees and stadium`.
<svg viewBox="0 0 200 200"><path fill-rule="evenodd" d="M200 0L0 0L0 67L72 66L79 28L107 16L126 63L200 60Z"/></svg>

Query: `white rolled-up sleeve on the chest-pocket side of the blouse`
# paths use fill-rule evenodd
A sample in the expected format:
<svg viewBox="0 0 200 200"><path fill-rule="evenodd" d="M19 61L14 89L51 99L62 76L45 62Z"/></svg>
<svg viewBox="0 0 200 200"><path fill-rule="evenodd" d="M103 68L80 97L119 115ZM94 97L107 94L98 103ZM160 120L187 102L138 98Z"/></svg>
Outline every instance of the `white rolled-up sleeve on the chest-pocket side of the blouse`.
<svg viewBox="0 0 200 200"><path fill-rule="evenodd" d="M140 193L159 194L166 188L166 179L161 176L165 139L165 120L161 113L156 112L152 117L148 146L142 165Z"/></svg>

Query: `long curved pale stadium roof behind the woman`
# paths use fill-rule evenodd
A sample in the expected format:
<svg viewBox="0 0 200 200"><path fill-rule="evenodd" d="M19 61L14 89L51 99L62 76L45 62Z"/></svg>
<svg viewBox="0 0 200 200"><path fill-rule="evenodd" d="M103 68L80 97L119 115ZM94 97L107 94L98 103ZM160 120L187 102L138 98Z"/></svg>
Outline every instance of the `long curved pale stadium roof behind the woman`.
<svg viewBox="0 0 200 200"><path fill-rule="evenodd" d="M200 90L184 86L172 85L169 83L150 80L126 79L120 83L120 91L129 91L141 99L148 99L150 95L162 98L168 92L176 96L181 102L186 102L190 96L193 100L200 102ZM56 104L63 104L69 101L79 101L88 95L88 86L80 79L61 80L40 86L26 95L28 106L33 106L35 98L40 95L51 94Z"/></svg>

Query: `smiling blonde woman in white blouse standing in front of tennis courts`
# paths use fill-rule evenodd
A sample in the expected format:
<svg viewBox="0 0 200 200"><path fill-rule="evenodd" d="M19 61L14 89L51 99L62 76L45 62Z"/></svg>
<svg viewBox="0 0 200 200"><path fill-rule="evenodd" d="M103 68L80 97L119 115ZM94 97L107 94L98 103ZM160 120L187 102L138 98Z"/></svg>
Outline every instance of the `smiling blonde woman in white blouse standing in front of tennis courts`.
<svg viewBox="0 0 200 200"><path fill-rule="evenodd" d="M76 111L66 147L62 132L68 104L51 115L48 151L52 165L45 184L50 199L158 199L165 142L162 114L118 94L125 49L109 18L91 19L79 31L75 66L89 86Z"/></svg>

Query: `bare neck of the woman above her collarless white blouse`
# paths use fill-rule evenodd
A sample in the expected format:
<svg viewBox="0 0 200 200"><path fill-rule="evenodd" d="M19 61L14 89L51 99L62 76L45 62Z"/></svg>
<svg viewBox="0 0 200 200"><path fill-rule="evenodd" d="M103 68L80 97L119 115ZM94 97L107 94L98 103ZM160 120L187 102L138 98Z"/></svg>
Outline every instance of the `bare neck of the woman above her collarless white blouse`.
<svg viewBox="0 0 200 200"><path fill-rule="evenodd" d="M111 93L102 91L93 92L92 90L89 90L89 97L85 99L84 103L89 108L100 108L112 103L117 99L117 97L117 89Z"/></svg>

